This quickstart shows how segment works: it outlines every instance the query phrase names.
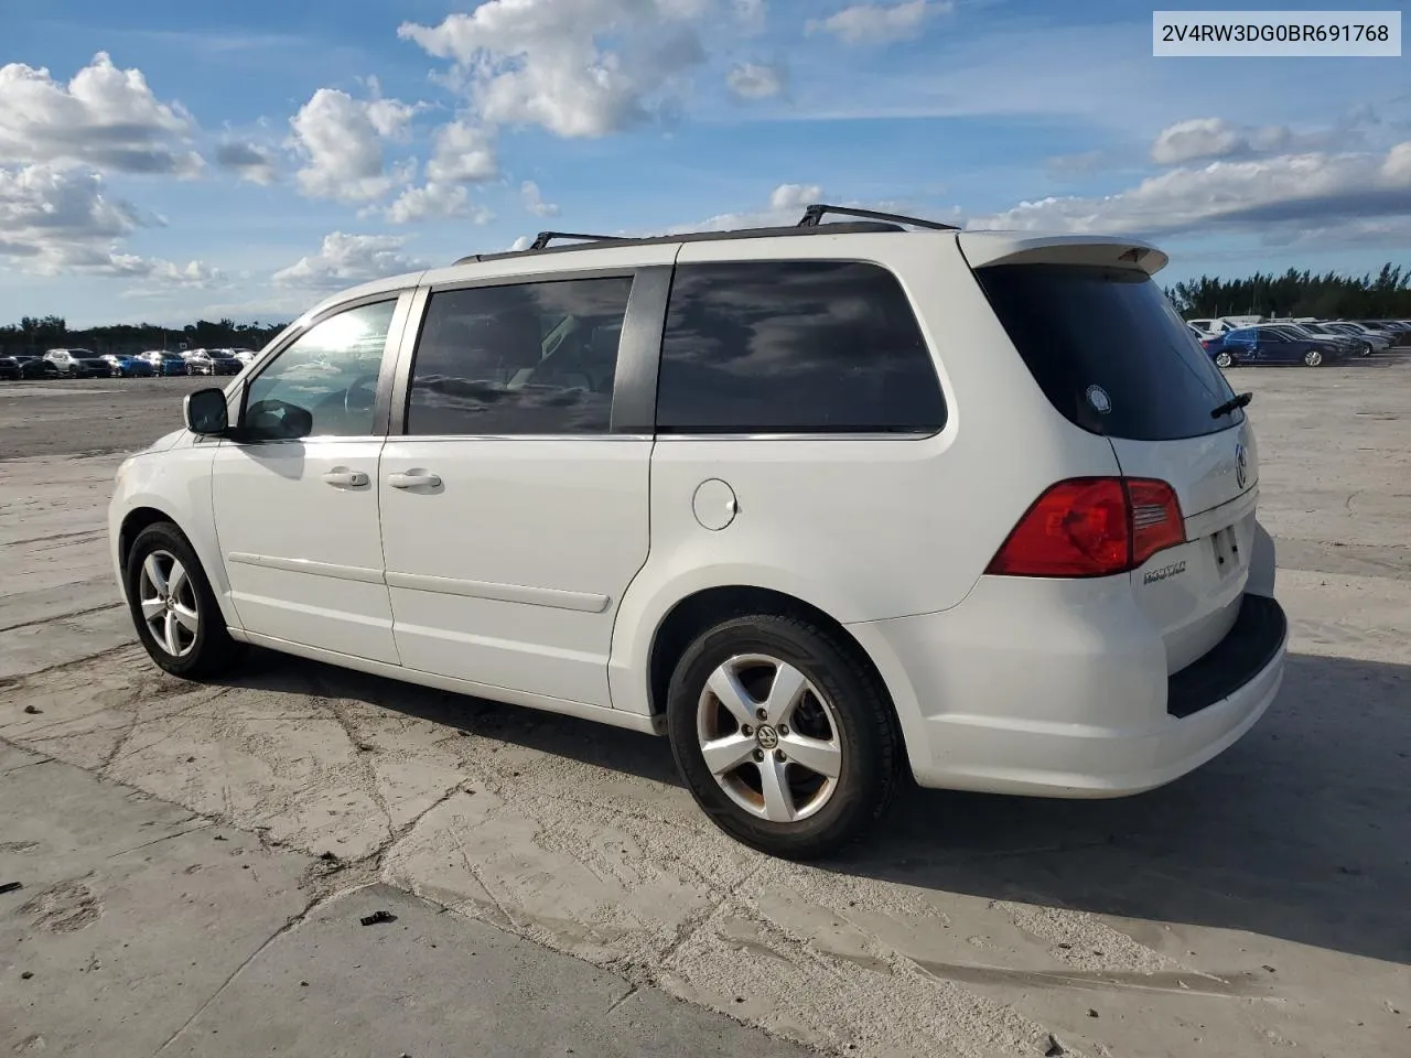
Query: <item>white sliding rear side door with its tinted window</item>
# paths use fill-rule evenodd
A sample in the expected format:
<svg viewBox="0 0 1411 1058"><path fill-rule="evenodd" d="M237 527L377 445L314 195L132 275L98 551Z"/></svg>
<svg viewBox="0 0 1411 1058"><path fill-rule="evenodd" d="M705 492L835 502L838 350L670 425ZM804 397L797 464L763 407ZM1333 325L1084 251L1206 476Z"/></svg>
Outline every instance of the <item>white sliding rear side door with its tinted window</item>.
<svg viewBox="0 0 1411 1058"><path fill-rule="evenodd" d="M652 440L611 423L632 282L430 293L378 485L409 669L611 705L612 621L648 552Z"/></svg>

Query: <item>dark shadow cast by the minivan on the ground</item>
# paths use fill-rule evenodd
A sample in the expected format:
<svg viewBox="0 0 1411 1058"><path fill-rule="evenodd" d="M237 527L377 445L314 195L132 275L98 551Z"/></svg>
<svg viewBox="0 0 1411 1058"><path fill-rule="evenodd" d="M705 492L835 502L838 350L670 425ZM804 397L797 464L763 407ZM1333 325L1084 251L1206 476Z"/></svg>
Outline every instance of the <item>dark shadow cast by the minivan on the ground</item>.
<svg viewBox="0 0 1411 1058"><path fill-rule="evenodd" d="M244 687L361 700L679 786L665 739L260 655ZM1411 666L1291 656L1226 753L1150 793L1062 801L910 789L823 870L1277 937L1411 963Z"/></svg>

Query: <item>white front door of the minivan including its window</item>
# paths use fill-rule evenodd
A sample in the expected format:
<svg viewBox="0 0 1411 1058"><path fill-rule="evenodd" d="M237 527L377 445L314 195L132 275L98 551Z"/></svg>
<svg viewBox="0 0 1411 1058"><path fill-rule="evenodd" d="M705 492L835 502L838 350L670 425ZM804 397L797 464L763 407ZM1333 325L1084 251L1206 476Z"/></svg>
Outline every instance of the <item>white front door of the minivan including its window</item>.
<svg viewBox="0 0 1411 1058"><path fill-rule="evenodd" d="M212 488L247 632L396 663L377 512L385 442L377 396L405 316L395 293L327 316L246 385L240 440L222 442Z"/></svg>

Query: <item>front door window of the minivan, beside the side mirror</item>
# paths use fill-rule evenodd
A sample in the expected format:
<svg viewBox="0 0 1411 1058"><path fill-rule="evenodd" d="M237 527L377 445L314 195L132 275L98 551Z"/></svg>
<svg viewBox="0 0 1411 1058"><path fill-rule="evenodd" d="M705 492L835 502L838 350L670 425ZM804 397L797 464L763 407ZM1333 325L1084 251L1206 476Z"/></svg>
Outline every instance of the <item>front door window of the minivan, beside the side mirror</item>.
<svg viewBox="0 0 1411 1058"><path fill-rule="evenodd" d="M377 379L395 309L395 299L347 309L286 346L246 392L241 426L248 436L278 440L373 433Z"/></svg>

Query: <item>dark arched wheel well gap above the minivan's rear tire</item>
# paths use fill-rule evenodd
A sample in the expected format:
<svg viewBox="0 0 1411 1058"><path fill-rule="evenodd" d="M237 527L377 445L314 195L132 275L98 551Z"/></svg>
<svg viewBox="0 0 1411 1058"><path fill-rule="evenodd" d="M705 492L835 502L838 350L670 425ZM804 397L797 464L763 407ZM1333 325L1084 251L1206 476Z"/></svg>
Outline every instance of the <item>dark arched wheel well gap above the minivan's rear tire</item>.
<svg viewBox="0 0 1411 1058"><path fill-rule="evenodd" d="M672 607L670 612L662 621L662 625L656 629L656 636L652 639L652 657L648 666L648 691L653 717L665 715L672 673L676 671L676 663L691 640L722 621L748 614L800 616L834 632L838 640L856 655L858 662L866 666L868 671L876 680L888 707L892 710L893 722L897 722L896 705L892 704L892 694L888 690L886 680L882 679L882 673L878 671L868 652L862 649L862 645L852 638L852 633L841 622L794 595L770 588L745 585L697 591L694 595L687 595ZM897 734L900 735L900 724L897 724Z"/></svg>

